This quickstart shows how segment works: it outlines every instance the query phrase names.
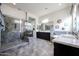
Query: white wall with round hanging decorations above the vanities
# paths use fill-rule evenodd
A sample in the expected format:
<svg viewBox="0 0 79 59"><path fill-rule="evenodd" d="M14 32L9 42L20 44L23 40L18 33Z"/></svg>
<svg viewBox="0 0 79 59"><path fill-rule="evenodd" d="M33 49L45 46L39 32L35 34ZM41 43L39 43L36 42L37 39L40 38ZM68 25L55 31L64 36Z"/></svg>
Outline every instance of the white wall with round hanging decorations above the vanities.
<svg viewBox="0 0 79 59"><path fill-rule="evenodd" d="M66 8L64 8L62 10L59 10L59 11L56 11L54 13L50 13L50 14L44 15L42 17L39 17L38 22L41 23L42 20L48 18L49 19L49 23L51 23L53 25L57 25L57 20L58 19L62 19L62 22L67 22L66 20L69 20L70 23L71 23L72 18L71 18L70 10L71 10L70 7L66 7ZM60 25L60 27L62 27L63 25L64 24L62 23ZM71 27L72 27L72 25L69 26L68 31L71 31ZM61 30L61 29L59 29L59 30Z"/></svg>

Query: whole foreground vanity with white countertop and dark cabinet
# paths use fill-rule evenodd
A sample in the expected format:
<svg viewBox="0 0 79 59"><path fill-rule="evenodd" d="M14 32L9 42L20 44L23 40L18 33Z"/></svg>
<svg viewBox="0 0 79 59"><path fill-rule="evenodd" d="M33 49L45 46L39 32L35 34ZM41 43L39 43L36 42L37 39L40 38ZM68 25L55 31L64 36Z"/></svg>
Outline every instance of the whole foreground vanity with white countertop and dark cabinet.
<svg viewBox="0 0 79 59"><path fill-rule="evenodd" d="M55 36L54 56L79 56L79 39L72 35Z"/></svg>

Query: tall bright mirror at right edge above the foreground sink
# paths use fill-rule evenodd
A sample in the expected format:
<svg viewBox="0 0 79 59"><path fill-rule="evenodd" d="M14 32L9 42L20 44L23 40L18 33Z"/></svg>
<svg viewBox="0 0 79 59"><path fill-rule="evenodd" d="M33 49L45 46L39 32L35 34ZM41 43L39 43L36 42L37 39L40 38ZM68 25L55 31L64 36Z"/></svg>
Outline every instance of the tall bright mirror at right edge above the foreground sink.
<svg viewBox="0 0 79 59"><path fill-rule="evenodd" d="M78 34L79 32L79 4L73 5L73 32Z"/></svg>

